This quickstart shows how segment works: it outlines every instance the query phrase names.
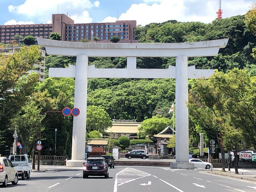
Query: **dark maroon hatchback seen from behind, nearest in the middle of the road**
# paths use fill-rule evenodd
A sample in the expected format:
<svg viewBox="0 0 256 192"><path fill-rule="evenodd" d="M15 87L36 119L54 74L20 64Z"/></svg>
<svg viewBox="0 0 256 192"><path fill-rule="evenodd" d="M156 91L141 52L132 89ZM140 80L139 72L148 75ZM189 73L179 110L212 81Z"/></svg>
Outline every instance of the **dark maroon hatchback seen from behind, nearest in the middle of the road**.
<svg viewBox="0 0 256 192"><path fill-rule="evenodd" d="M83 178L104 176L108 178L108 163L104 157L88 157L83 167Z"/></svg>

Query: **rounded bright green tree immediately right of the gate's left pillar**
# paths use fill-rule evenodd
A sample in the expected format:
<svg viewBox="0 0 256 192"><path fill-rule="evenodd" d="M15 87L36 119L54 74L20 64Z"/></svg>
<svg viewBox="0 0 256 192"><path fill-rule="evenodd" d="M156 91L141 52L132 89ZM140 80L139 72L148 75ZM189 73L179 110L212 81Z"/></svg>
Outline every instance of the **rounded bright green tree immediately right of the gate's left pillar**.
<svg viewBox="0 0 256 192"><path fill-rule="evenodd" d="M108 113L98 106L88 106L86 115L87 132L99 131L104 132L105 129L112 126L112 120Z"/></svg>

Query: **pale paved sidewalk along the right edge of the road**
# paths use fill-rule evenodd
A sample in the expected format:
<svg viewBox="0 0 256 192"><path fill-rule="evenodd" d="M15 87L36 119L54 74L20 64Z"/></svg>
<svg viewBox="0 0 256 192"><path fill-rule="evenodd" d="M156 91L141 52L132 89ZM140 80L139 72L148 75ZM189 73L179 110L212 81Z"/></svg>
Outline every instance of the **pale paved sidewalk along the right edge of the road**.
<svg viewBox="0 0 256 192"><path fill-rule="evenodd" d="M216 169L216 168L215 168ZM221 169L220 169L221 170ZM238 179L244 179L244 180L250 180L250 181L256 181L256 170L243 170L238 169L239 174L235 174L235 169L231 169L230 172L221 172L221 171L208 171L208 173L221 175L221 176L227 176L227 177L233 177Z"/></svg>

